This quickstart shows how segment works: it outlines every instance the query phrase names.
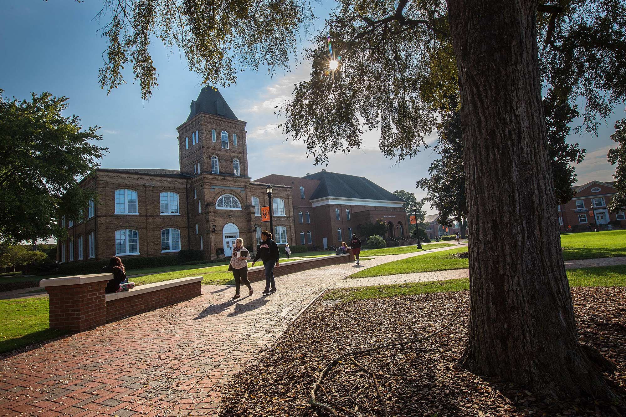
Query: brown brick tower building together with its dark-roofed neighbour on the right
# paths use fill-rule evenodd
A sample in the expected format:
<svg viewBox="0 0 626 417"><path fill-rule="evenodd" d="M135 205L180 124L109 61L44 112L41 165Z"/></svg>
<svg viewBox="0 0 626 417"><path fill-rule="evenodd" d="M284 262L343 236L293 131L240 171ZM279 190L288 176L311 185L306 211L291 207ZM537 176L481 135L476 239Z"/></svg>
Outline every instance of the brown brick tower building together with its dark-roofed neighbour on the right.
<svg viewBox="0 0 626 417"><path fill-rule="evenodd" d="M325 248L359 235L359 225L383 219L387 237L406 235L403 200L363 177L322 170L305 177L268 175L252 181L245 121L237 119L217 88L206 86L178 126L180 170L100 168L80 182L95 190L85 221L61 220L69 239L58 260L103 260L112 255L167 255L202 250L226 256L235 239L260 242L260 207L272 185L277 244ZM254 249L253 249L254 250Z"/></svg>

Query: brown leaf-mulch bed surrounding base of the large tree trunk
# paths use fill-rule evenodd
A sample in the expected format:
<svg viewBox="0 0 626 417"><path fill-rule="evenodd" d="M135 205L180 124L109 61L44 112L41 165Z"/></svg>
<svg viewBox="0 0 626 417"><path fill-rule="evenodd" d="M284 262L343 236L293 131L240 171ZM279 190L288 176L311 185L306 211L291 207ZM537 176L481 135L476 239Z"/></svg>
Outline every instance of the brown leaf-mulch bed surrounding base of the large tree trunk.
<svg viewBox="0 0 626 417"><path fill-rule="evenodd" d="M339 416L626 415L626 288L575 288L572 297L580 340L617 365L617 372L605 374L617 394L612 404L583 399L557 403L460 368L456 361L466 342L469 312L469 292L463 291L339 304L317 301L235 377L223 392L221 415L314 416L310 391L332 359L427 336L459 311L451 326L428 341L356 356L357 364L342 361L324 378L317 400Z"/></svg>

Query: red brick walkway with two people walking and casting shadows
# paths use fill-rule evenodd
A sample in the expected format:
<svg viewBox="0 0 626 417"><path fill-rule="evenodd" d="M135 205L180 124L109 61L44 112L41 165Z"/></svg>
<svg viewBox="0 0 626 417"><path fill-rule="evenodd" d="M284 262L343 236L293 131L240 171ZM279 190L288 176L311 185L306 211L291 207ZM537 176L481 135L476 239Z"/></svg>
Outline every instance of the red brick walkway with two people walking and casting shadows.
<svg viewBox="0 0 626 417"><path fill-rule="evenodd" d="M2 356L0 416L217 414L223 384L355 270L349 263L278 277L278 292L265 297L257 282L254 296L235 301L232 286L203 286L192 300Z"/></svg>

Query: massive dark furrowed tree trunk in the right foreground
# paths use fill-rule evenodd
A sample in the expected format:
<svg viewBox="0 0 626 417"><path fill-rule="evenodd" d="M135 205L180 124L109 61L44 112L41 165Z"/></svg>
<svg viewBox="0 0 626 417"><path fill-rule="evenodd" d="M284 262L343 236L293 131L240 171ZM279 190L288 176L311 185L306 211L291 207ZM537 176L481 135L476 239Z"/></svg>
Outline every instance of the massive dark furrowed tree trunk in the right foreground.
<svg viewBox="0 0 626 417"><path fill-rule="evenodd" d="M470 245L461 364L538 393L610 395L577 340L541 106L536 6L448 0Z"/></svg>

